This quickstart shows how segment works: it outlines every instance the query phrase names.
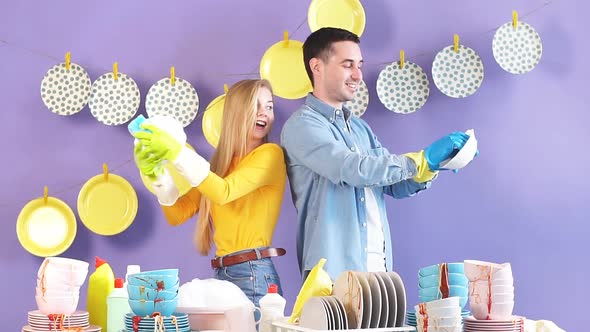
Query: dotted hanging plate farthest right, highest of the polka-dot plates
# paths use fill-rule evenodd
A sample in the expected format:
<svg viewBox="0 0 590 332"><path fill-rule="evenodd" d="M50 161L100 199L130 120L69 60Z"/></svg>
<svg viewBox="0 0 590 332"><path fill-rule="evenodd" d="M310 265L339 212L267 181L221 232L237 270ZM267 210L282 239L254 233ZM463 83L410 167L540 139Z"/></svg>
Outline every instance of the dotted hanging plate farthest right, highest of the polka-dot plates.
<svg viewBox="0 0 590 332"><path fill-rule="evenodd" d="M512 22L508 22L496 30L492 52L502 69L512 74L524 74L533 70L541 60L543 44L530 25L518 22L514 28Z"/></svg>

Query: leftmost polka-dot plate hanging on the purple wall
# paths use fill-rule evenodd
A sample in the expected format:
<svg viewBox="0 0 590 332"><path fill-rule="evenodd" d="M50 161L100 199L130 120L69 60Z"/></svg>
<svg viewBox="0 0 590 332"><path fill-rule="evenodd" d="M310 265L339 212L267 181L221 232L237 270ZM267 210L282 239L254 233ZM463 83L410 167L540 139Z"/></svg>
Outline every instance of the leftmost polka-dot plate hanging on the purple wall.
<svg viewBox="0 0 590 332"><path fill-rule="evenodd" d="M59 115L80 112L90 96L90 76L81 66L70 63L55 65L47 71L41 81L41 99L47 108Z"/></svg>

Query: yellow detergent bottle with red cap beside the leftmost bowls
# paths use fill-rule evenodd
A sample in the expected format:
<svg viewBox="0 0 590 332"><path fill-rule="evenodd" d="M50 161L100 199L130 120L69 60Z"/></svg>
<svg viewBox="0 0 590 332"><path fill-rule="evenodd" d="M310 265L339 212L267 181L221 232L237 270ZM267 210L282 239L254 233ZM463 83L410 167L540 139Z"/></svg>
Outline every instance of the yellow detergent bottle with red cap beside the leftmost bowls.
<svg viewBox="0 0 590 332"><path fill-rule="evenodd" d="M107 297L115 288L115 275L111 266L96 256L96 271L88 278L88 298L86 310L90 324L98 325L102 331L107 331Z"/></svg>

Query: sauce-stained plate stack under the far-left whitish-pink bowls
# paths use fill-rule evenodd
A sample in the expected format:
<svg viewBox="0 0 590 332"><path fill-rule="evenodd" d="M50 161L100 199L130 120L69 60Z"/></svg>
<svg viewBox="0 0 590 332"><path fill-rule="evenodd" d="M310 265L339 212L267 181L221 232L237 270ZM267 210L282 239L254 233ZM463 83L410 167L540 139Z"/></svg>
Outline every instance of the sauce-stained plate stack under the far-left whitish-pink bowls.
<svg viewBox="0 0 590 332"><path fill-rule="evenodd" d="M60 331L81 328L85 332L98 332L100 326L90 325L88 311L76 311L71 315L45 315L40 310L28 312L29 325L24 326L23 332Z"/></svg>

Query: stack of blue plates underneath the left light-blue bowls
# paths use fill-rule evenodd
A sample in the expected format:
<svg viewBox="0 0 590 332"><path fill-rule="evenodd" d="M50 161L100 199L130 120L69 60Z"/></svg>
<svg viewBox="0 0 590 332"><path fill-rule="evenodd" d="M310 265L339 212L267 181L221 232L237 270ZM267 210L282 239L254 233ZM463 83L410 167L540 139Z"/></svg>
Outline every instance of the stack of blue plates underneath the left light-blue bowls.
<svg viewBox="0 0 590 332"><path fill-rule="evenodd" d="M134 324L138 327L134 329ZM125 331L127 332L153 332L153 331L175 331L190 332L188 315L174 313L169 317L141 317L132 313L125 315Z"/></svg>

